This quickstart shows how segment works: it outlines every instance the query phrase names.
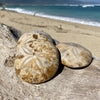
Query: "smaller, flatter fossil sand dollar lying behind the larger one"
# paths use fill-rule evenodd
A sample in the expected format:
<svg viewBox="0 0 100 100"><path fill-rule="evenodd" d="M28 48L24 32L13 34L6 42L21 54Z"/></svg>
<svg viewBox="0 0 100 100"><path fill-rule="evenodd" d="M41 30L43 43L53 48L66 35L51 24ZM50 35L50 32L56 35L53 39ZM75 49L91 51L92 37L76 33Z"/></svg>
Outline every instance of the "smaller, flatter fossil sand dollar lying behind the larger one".
<svg viewBox="0 0 100 100"><path fill-rule="evenodd" d="M71 68L88 66L92 61L89 50L75 43L59 43L56 45L61 54L61 62Z"/></svg>

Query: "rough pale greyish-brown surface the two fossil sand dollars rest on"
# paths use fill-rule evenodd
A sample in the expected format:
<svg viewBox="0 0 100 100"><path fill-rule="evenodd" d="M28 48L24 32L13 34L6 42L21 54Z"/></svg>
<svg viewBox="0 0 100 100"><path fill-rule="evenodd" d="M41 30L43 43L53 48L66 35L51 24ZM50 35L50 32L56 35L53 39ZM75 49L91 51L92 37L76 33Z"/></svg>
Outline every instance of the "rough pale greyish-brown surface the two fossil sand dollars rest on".
<svg viewBox="0 0 100 100"><path fill-rule="evenodd" d="M16 42L8 33L12 41L0 31L0 100L100 100L100 62L95 59L80 70L61 66L59 74L43 84L21 81L13 66Z"/></svg>

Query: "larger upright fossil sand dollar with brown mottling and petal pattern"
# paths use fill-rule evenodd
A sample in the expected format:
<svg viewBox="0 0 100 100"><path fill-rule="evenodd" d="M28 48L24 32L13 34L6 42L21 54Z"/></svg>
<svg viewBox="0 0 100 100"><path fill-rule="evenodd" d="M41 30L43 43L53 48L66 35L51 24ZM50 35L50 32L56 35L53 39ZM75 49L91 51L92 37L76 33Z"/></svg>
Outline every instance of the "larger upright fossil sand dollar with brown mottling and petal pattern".
<svg viewBox="0 0 100 100"><path fill-rule="evenodd" d="M28 83L42 83L57 72L59 56L57 48L44 34L24 34L18 41L15 70Z"/></svg>

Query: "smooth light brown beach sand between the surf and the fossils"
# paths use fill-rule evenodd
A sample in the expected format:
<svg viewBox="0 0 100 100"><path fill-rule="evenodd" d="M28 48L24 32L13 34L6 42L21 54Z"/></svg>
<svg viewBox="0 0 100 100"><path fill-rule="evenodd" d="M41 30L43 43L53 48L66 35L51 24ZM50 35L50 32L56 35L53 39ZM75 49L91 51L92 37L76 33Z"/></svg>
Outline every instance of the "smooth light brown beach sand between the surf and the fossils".
<svg viewBox="0 0 100 100"><path fill-rule="evenodd" d="M81 44L94 56L100 57L100 27L3 10L0 10L0 23L12 26L23 33L42 30L60 42Z"/></svg>

